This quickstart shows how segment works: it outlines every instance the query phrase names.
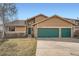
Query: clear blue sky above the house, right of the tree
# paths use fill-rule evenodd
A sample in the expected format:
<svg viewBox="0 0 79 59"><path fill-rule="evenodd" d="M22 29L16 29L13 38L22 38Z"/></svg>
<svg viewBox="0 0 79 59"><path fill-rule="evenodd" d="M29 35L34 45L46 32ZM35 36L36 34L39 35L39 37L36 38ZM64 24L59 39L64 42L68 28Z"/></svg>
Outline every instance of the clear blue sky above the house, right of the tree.
<svg viewBox="0 0 79 59"><path fill-rule="evenodd" d="M57 14L66 18L79 17L79 3L19 3L16 7L19 19L27 19L40 13L47 16Z"/></svg>

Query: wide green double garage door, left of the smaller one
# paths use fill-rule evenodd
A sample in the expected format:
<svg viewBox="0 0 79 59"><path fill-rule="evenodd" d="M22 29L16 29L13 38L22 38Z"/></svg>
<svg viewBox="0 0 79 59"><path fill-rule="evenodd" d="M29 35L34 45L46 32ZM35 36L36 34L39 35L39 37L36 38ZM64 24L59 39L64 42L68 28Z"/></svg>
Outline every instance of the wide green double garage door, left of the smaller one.
<svg viewBox="0 0 79 59"><path fill-rule="evenodd" d="M41 37L41 38L59 37L59 29L58 28L38 28L38 37Z"/></svg>

